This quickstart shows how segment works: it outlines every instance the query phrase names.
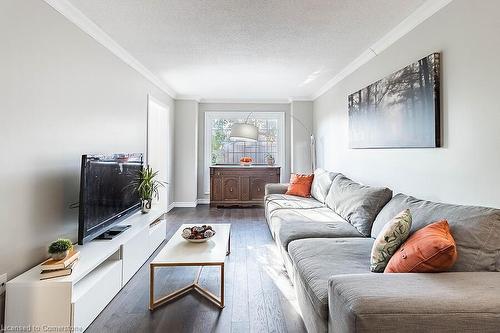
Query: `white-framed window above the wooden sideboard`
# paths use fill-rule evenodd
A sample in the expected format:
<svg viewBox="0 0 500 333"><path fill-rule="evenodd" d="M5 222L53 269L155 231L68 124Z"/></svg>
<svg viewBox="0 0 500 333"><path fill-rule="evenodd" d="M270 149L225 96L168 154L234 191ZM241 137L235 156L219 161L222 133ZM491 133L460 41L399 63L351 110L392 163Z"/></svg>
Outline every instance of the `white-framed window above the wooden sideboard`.
<svg viewBox="0 0 500 333"><path fill-rule="evenodd" d="M254 164L267 164L271 155L276 165L284 159L283 112L253 112L248 122L259 128L257 142L231 141L229 135L234 123L244 123L250 112L205 113L205 193L208 193L209 167L214 164L240 164L249 156Z"/></svg>

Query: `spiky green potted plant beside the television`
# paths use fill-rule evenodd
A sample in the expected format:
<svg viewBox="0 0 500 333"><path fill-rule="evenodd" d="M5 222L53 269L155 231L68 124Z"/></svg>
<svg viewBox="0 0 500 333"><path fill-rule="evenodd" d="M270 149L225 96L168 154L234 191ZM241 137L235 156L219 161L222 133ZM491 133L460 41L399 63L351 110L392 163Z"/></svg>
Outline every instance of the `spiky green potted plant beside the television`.
<svg viewBox="0 0 500 333"><path fill-rule="evenodd" d="M160 187L164 187L166 184L161 180L155 179L156 176L158 176L158 171L153 171L148 165L138 172L133 182L133 186L141 199L141 211L143 214L149 213L153 198L160 198Z"/></svg>

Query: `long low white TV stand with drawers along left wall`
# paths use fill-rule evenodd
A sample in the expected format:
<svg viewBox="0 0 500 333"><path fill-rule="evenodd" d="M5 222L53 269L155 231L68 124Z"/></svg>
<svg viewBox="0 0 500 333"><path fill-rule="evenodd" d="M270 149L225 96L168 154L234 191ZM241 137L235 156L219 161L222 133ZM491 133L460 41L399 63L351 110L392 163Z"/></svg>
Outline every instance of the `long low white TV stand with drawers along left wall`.
<svg viewBox="0 0 500 333"><path fill-rule="evenodd" d="M137 212L112 240L77 246L80 259L69 276L40 280L38 265L7 282L5 328L83 332L165 240L164 213Z"/></svg>

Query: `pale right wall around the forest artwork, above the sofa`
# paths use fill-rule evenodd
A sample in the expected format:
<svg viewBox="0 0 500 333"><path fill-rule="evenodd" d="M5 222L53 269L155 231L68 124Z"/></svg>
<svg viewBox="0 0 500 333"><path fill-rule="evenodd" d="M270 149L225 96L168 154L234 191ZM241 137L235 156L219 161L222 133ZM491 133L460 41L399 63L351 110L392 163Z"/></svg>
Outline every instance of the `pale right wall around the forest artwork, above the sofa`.
<svg viewBox="0 0 500 333"><path fill-rule="evenodd" d="M500 2L455 0L314 101L319 166L395 192L500 208ZM348 149L348 94L442 52L439 149Z"/></svg>

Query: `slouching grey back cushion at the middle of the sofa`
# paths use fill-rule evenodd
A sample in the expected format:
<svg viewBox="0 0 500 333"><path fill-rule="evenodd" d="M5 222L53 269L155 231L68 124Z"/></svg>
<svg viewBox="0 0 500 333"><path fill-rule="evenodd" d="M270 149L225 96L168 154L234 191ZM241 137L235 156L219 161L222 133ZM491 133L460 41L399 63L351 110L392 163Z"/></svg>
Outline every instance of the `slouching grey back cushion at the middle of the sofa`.
<svg viewBox="0 0 500 333"><path fill-rule="evenodd" d="M388 188L361 185L338 175L332 182L326 205L368 237L375 217L391 198L392 191Z"/></svg>

